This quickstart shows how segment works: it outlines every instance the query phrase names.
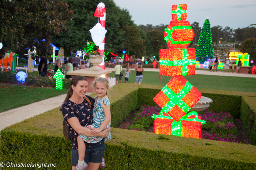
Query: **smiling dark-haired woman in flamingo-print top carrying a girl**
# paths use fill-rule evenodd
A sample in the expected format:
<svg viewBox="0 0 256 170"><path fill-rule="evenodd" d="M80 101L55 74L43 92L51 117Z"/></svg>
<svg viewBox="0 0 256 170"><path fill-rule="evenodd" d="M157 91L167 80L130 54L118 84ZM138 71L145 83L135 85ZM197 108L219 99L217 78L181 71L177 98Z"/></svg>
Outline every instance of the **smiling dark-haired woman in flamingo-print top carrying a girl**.
<svg viewBox="0 0 256 170"><path fill-rule="evenodd" d="M93 122L93 104L95 100L90 96L87 98L90 103L84 98L88 89L87 79L83 76L75 76L71 81L71 88L68 89L67 96L60 110L62 111L64 120L68 121L69 136L71 137L71 165L72 170L75 170L78 164L78 134L85 136L96 136L102 138L100 142L85 143L86 152L84 162L88 163L87 170L98 170L102 162L102 157L105 150L104 139L107 137L110 128L103 130L100 133L91 133L90 129L84 126L90 125ZM90 157L89 157L90 155Z"/></svg>

